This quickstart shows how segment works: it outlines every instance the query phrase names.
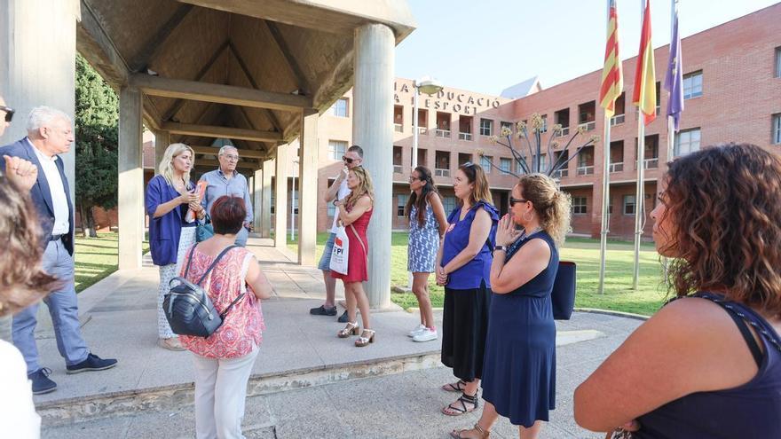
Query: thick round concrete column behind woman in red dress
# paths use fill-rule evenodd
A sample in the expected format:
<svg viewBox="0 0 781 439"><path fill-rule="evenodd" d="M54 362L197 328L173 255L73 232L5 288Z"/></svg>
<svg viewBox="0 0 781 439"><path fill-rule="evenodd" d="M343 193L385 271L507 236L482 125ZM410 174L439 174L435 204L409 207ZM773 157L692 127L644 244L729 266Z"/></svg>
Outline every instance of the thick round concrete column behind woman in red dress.
<svg viewBox="0 0 781 439"><path fill-rule="evenodd" d="M352 140L364 150L374 180L375 205L367 238L367 295L373 309L390 307L390 230L393 215L393 80L396 40L390 27L355 31Z"/></svg>

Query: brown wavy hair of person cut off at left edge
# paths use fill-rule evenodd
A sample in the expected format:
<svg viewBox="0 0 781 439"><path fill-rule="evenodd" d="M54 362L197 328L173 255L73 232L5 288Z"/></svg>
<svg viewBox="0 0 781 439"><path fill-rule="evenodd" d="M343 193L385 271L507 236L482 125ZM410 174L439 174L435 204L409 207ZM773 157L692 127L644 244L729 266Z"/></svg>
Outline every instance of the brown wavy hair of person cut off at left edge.
<svg viewBox="0 0 781 439"><path fill-rule="evenodd" d="M40 235L32 200L0 174L0 316L27 308L59 285L41 268Z"/></svg>

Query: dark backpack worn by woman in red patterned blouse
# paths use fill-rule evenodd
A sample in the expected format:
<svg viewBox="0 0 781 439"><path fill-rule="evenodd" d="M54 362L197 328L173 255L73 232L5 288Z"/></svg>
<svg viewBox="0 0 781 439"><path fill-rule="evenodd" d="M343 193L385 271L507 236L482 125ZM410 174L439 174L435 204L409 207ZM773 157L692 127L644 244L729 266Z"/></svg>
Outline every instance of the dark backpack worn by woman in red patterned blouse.
<svg viewBox="0 0 781 439"><path fill-rule="evenodd" d="M223 324L225 315L233 308L237 302L244 297L245 293L239 294L236 299L228 305L227 308L221 313L217 313L214 308L214 304L209 299L209 294L201 288L201 283L215 265L222 259L222 257L228 253L233 247L226 247L217 257L214 262L209 265L209 268L203 273L201 279L197 284L193 284L186 279L187 273L190 271L190 263L193 262L193 252L195 244L190 250L190 255L187 257L187 268L185 269L185 277L172 278L170 284L177 281L178 284L171 286L170 293L165 294L162 302L162 309L165 313L166 319L174 333L179 335L195 335L198 337L209 337L212 333L217 331L217 328Z"/></svg>

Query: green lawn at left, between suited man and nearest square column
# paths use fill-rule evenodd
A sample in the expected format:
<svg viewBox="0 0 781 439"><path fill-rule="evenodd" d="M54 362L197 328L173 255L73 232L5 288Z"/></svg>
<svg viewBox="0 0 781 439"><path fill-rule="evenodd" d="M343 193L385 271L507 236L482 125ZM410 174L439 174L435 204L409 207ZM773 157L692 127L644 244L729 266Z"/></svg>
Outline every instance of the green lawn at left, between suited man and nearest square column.
<svg viewBox="0 0 781 439"><path fill-rule="evenodd" d="M83 291L116 271L118 236L116 232L99 233L98 238L83 238L76 234L76 292ZM149 249L149 243L145 241L143 248L146 252Z"/></svg>

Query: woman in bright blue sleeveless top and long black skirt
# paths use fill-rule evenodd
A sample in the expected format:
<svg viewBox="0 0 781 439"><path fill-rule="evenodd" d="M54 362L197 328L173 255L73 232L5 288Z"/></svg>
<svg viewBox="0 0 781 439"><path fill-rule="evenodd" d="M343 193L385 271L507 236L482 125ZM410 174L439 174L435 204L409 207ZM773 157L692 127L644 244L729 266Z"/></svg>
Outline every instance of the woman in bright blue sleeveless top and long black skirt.
<svg viewBox="0 0 781 439"><path fill-rule="evenodd" d="M491 249L499 215L479 165L461 165L454 175L453 191L459 207L447 217L436 269L438 285L445 286L442 364L452 368L458 378L442 388L461 392L442 412L457 416L477 409L491 302Z"/></svg>

